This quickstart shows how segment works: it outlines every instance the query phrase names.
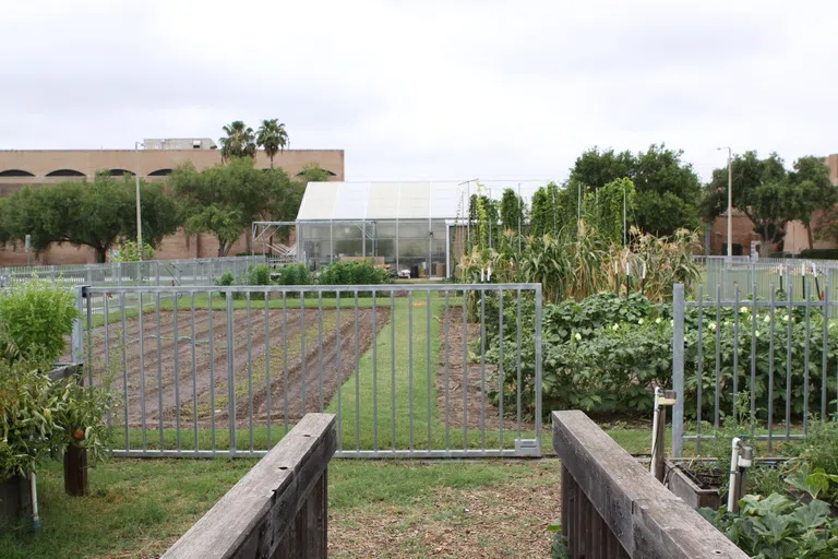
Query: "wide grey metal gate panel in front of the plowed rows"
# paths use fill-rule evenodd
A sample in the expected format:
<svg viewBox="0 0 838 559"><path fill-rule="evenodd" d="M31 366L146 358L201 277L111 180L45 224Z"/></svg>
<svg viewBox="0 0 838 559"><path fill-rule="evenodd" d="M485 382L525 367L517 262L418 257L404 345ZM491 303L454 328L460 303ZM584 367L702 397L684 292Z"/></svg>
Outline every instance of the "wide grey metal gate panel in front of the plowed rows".
<svg viewBox="0 0 838 559"><path fill-rule="evenodd" d="M336 414L344 457L540 455L538 284L94 286L80 297L86 326L73 345L88 382L117 394L107 421L119 455L262 455L308 412ZM522 321L523 307L535 318ZM517 341L516 359L504 345L492 357L493 335Z"/></svg>

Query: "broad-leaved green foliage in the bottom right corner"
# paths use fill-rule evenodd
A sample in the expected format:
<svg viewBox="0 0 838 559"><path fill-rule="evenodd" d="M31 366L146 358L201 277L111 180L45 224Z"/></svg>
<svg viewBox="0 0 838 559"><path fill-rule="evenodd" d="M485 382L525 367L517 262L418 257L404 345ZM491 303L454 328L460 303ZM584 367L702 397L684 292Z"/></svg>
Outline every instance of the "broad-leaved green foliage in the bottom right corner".
<svg viewBox="0 0 838 559"><path fill-rule="evenodd" d="M737 514L699 509L702 515L751 557L827 559L838 555L838 519L829 504L780 493L746 495Z"/></svg>

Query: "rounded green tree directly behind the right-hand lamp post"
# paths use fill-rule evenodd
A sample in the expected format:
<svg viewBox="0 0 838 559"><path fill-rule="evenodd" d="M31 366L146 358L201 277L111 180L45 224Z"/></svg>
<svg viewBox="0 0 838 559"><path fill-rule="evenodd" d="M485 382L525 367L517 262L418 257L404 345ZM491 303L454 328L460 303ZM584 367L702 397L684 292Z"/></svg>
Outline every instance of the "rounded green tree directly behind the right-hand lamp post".
<svg viewBox="0 0 838 559"><path fill-rule="evenodd" d="M786 234L786 224L797 215L794 188L782 165L782 159L771 153L759 159L756 152L737 155L731 162L733 179L733 207L744 213L753 223L763 241L763 250L779 245ZM728 169L713 171L707 186L704 207L705 217L711 222L727 211Z"/></svg>

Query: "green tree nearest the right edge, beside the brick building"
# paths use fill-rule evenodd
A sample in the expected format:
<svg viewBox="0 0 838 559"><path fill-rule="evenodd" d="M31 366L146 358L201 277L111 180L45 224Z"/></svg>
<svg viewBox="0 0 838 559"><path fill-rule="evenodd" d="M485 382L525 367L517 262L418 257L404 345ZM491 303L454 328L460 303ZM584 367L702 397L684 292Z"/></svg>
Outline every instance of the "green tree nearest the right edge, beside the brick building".
<svg viewBox="0 0 838 559"><path fill-rule="evenodd" d="M829 167L821 157L805 156L794 162L789 174L792 187L791 209L795 219L806 228L809 248L814 248L812 218L818 210L830 212L838 203L838 188L829 180Z"/></svg>

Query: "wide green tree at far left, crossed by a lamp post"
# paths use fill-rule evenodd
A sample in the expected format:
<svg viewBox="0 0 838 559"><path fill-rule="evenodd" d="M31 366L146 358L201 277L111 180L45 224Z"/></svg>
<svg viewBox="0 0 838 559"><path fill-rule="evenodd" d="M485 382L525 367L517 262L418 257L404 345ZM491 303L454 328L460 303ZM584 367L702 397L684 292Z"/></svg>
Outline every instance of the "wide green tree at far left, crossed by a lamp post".
<svg viewBox="0 0 838 559"><path fill-rule="evenodd" d="M136 231L134 188L129 177L107 173L97 173L93 182L24 188L3 204L5 235L16 241L31 235L36 253L52 242L87 246L96 251L98 262L105 262L120 238ZM161 185L146 183L141 183L141 201L143 238L157 245L180 224L176 203Z"/></svg>

